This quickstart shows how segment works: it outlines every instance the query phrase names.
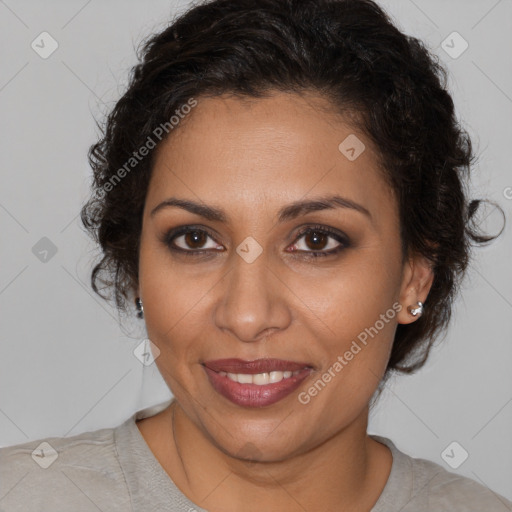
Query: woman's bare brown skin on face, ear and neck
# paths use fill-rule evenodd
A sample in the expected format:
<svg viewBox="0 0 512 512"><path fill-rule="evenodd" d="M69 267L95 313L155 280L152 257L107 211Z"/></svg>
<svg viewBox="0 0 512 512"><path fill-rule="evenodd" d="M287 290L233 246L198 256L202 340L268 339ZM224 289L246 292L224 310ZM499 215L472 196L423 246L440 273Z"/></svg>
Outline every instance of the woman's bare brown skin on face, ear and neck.
<svg viewBox="0 0 512 512"><path fill-rule="evenodd" d="M338 149L350 134L364 142L354 161ZM372 145L314 94L264 99L198 98L158 148L143 217L139 296L156 364L175 396L137 425L176 485L211 512L364 511L381 494L389 449L366 434L369 402L397 323L424 302L433 273L423 258L402 261L398 205ZM337 193L364 206L309 212L279 223L291 202ZM150 212L168 197L225 211L226 223L181 208ZM298 233L319 224L344 233ZM182 225L209 229L203 240L165 234ZM236 248L251 236L263 252L247 263ZM188 242L188 245L187 245ZM194 245L195 243L195 245ZM220 251L214 251L219 248ZM295 248L302 253L293 253ZM402 310L308 404L298 394L318 380L380 315ZM306 361L301 387L263 408L237 406L210 385L201 363L236 357Z"/></svg>

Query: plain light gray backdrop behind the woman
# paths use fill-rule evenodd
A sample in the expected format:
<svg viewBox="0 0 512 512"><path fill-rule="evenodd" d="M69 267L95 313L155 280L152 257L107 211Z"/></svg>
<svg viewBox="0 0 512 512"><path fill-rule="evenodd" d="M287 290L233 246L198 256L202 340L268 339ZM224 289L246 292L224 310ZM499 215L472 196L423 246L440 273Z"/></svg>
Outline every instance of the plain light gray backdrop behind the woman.
<svg viewBox="0 0 512 512"><path fill-rule="evenodd" d="M458 114L480 154L472 193L510 215L512 2L380 3L448 67ZM92 292L97 251L78 211L88 193L93 118L124 90L141 38L186 4L0 1L2 446L115 426L171 396L156 366L133 354L145 338L143 323L120 328L116 312ZM31 48L43 31L59 44L47 59ZM455 59L441 47L453 31L469 43ZM482 225L492 230L498 220L487 210ZM47 261L32 250L43 237L57 248ZM419 373L389 383L369 428L508 499L511 254L509 218L497 242L475 251L446 339ZM469 453L456 470L441 457L453 441Z"/></svg>

